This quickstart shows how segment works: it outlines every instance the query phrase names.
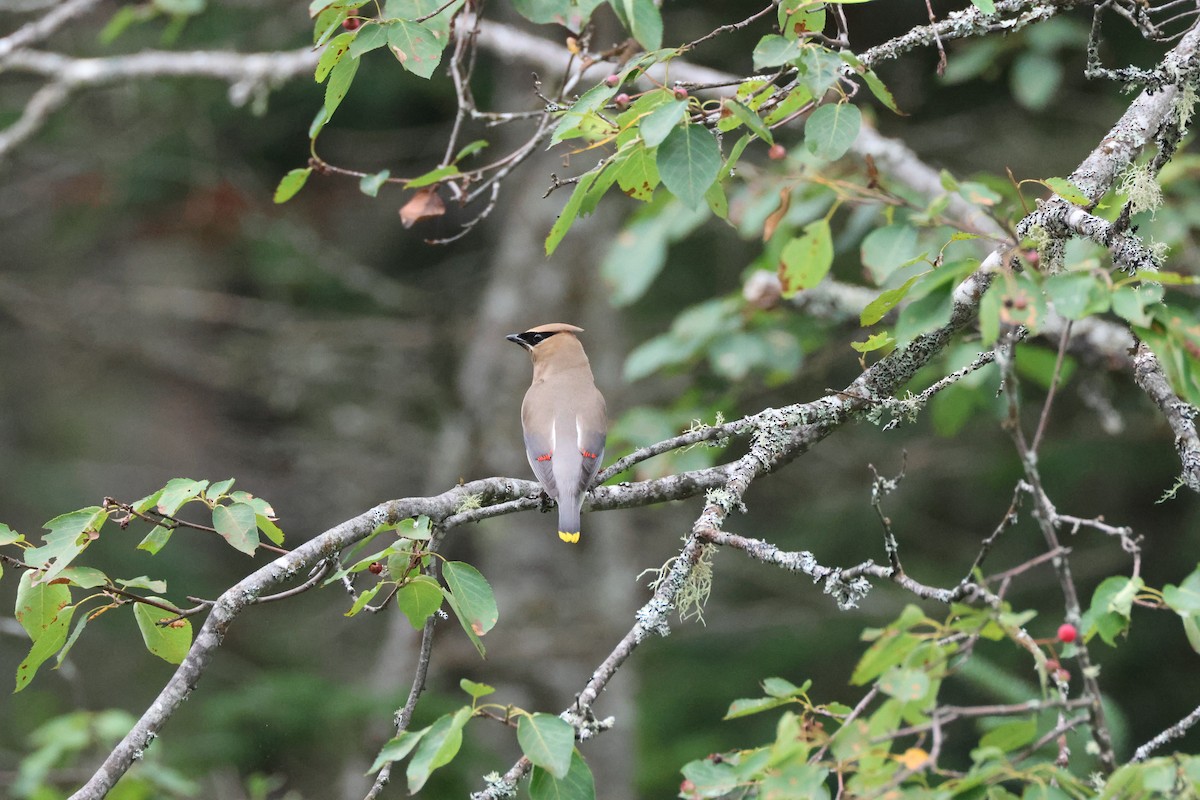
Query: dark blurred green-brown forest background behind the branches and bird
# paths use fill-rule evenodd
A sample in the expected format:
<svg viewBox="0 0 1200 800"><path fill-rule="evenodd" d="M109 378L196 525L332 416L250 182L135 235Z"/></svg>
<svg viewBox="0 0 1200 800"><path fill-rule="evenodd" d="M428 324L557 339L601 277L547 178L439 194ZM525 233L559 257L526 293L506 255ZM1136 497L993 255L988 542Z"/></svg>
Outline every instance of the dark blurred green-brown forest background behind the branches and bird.
<svg viewBox="0 0 1200 800"><path fill-rule="evenodd" d="M919 0L876 5L847 8L856 49L925 19ZM80 55L163 46L162 22L101 44L97 31L118 6L102 5L49 46ZM751 2L668 2L667 38L694 38L756 10ZM494 11L510 19L506 10ZM0 30L36 13L4 14ZM950 44L948 79L935 74L934 52L883 66L907 116L876 109L878 127L959 176L1006 168L1019 176L1068 174L1129 100L1082 78L1088 18L1064 14L1018 36ZM613 30L611 19L601 30ZM749 72L749 50L763 32L718 40L695 60ZM1126 34L1114 30L1120 47L1106 55L1157 60L1160 48ZM300 5L230 0L210 2L170 47L251 52L308 41ZM488 58L479 71L480 106L535 107L529 67ZM35 86L25 76L0 77L0 121L16 119ZM354 180L314 175L276 206L275 184L307 160L305 132L320 97L320 86L298 79L253 114L230 107L227 88L209 80L94 90L0 167L0 521L32 537L47 519L106 495L132 501L170 477L233 476L239 488L271 501L294 543L389 498L437 493L460 479L528 477L518 407L529 365L504 335L545 321L587 329L613 416L668 405L715 380L685 373L628 384L622 365L683 308L738 293L750 257L733 230L706 224L674 245L648 294L618 309L596 266L635 204L610 198L547 260L541 242L565 199L562 192L542 199L550 173L563 172L558 154L515 173L496 212L448 246L422 239L455 233L461 218L406 230L396 213L404 198L394 187L372 199ZM425 172L440 157L454 103L444 77L424 82L386 58L367 58L320 137L322 156L368 173ZM524 133L482 132L493 154ZM781 139L788 136L799 146L799 132ZM1174 231L1175 269L1187 270L1190 225L1180 221L1188 206L1180 207L1152 224ZM856 247L851 242L851 255ZM804 359L793 380L768 385L751 377L708 397L727 414L752 413L811 399L858 372L844 344ZM1040 389L1027 389L1036 411ZM1096 393L1120 415L1120 432L1105 432L1085 402ZM730 529L810 549L824 564L882 561L869 465L894 474L907 453L907 477L887 501L906 569L926 583L954 583L1000 523L1020 474L995 410L980 403L968 413L949 437L938 435L930 414L889 433L869 425L841 431L756 483L749 515ZM610 447L610 458L619 455ZM1073 378L1057 401L1042 468L1060 510L1103 515L1146 537L1150 584L1177 582L1190 570L1200 552L1198 504L1192 497L1154 504L1178 463L1169 431L1127 374L1085 369ZM496 685L502 703L564 708L648 596L636 576L676 551L700 507L697 498L589 515L576 548L560 546L551 518L535 513L455 530L448 554L488 577L500 621L487 636L486 661L455 625L442 627L418 724L461 704L463 676ZM86 558L112 576L164 578L176 602L215 597L262 563L191 534L151 558L133 549L143 533L106 529ZM1022 513L989 567L1018 564L1040 552L1039 542ZM1070 545L1085 597L1127 570L1115 542L1080 534ZM8 571L0 606L11 607L14 585ZM1040 612L1030 625L1034 636L1051 636L1061 621L1049 569L1015 584L1009 600ZM770 715L720 722L732 699L758 693L762 678L812 678L815 698L853 704L859 690L846 680L864 646L860 630L911 601L881 587L860 609L840 613L818 587L719 553L706 624L677 625L668 639L647 643L598 704L598 714L618 722L584 748L600 796L671 796L686 760L772 735ZM344 593L330 587L247 613L155 745L162 759L200 781L202 796L269 789L272 796L361 796L362 772L407 693L418 639L398 614L347 619L348 607ZM1124 646L1099 645L1098 654L1126 753L1200 703L1196 655L1178 624L1170 614L1142 616ZM0 675L12 675L28 650L12 627L0 628ZM948 685L952 702L955 692L1007 698L1006 681L1036 685L1027 661L1004 648L984 648L977 661L995 672L980 666ZM47 664L19 694L0 692L0 772L12 775L30 732L55 715L139 714L170 669L145 652L128 614L97 619L62 669ZM464 753L427 792L461 796L517 754L505 732L474 723ZM404 793L401 781L386 796Z"/></svg>

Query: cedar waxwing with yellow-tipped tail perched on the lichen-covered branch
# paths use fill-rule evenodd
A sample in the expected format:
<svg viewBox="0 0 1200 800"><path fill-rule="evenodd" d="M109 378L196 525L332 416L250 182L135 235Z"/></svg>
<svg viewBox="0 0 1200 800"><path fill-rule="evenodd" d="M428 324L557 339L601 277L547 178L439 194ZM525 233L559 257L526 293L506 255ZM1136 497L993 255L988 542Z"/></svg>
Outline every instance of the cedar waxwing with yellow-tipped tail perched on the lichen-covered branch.
<svg viewBox="0 0 1200 800"><path fill-rule="evenodd" d="M558 537L580 541L580 507L600 471L608 416L592 365L575 337L582 327L551 323L506 338L529 350L533 385L521 404L526 456L546 494L558 500Z"/></svg>

